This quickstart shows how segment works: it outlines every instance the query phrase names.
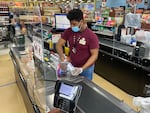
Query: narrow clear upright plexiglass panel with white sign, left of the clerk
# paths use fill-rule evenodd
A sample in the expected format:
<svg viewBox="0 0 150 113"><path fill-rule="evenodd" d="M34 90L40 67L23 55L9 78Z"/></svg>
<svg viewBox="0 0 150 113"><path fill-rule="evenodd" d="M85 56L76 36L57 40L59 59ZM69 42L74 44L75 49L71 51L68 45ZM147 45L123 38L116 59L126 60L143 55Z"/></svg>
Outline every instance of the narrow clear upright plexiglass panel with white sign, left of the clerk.
<svg viewBox="0 0 150 113"><path fill-rule="evenodd" d="M35 6L32 14L33 27L33 57L35 64L34 85L33 85L33 103L39 108L41 113L47 112L46 106L46 64L44 61L44 39L43 26L40 7ZM32 79L32 78L31 78Z"/></svg>

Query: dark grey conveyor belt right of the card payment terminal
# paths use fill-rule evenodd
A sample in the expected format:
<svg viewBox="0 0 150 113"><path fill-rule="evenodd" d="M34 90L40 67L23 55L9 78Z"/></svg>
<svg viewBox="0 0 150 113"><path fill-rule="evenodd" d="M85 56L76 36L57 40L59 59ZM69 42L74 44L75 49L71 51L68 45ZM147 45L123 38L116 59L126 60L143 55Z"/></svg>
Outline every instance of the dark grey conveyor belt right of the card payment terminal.
<svg viewBox="0 0 150 113"><path fill-rule="evenodd" d="M85 113L135 113L132 110L123 110L122 106L118 107L115 102L112 103L109 98L106 98L105 94L99 94L85 83L79 84L82 85L83 90L78 105Z"/></svg>

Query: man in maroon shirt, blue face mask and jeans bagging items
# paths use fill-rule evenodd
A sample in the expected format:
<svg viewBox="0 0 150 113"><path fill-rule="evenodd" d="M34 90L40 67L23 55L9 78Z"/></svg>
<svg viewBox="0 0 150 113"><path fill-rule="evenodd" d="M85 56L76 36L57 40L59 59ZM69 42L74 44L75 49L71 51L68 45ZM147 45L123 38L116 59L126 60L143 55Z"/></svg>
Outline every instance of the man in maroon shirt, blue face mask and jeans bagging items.
<svg viewBox="0 0 150 113"><path fill-rule="evenodd" d="M98 57L99 40L92 32L83 18L80 9L73 9L67 14L71 27L66 29L57 43L57 52L64 61L63 46L69 44L69 61L77 69L82 71L77 75L84 76L92 80L94 63Z"/></svg>

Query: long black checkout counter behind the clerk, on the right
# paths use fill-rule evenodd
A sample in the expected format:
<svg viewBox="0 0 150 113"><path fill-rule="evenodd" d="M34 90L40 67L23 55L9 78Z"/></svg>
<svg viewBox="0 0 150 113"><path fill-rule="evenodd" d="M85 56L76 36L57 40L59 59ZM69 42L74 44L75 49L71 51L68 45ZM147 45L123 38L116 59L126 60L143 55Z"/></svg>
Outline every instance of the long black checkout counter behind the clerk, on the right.
<svg viewBox="0 0 150 113"><path fill-rule="evenodd" d="M144 50L147 48L101 36L99 44L95 72L130 95L150 96L150 56Z"/></svg>

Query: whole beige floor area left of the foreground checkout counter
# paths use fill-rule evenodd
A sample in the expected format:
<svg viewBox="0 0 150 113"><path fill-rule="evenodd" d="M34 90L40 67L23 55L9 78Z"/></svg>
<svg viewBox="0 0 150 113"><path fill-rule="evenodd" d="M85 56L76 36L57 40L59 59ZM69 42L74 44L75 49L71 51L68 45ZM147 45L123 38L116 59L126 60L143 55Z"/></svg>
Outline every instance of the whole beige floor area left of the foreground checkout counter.
<svg viewBox="0 0 150 113"><path fill-rule="evenodd" d="M0 50L0 113L27 113L8 52Z"/></svg>

